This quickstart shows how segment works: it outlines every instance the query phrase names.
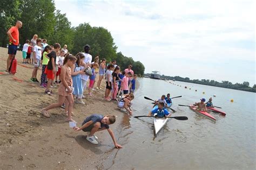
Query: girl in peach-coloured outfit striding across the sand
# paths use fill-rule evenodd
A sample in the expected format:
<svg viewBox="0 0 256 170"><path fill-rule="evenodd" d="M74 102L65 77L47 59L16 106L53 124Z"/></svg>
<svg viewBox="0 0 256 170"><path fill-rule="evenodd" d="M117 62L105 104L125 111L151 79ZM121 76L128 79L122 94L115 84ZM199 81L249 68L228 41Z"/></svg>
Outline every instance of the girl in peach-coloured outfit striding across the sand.
<svg viewBox="0 0 256 170"><path fill-rule="evenodd" d="M60 48L60 45L55 44L54 49L59 49L59 48ZM54 54L52 54L52 55L54 55ZM52 55L49 55L49 57L53 61ZM41 112L45 117L50 117L48 110L60 107L60 105L62 105L66 100L66 103L68 103L68 104L66 104L66 107L68 108L68 118L66 118L66 122L73 121L73 119L71 118L71 114L72 114L74 100L73 100L73 95L72 95L72 77L71 77L71 68L70 67L72 65L74 65L75 62L76 62L75 56L67 55L65 57L64 62L63 62L62 72L60 73L60 79L62 80L62 82L60 82L59 88L58 88L59 100L58 100L58 103L53 103L53 104L49 105L48 107L42 109ZM49 81L48 81L48 83L49 83Z"/></svg>

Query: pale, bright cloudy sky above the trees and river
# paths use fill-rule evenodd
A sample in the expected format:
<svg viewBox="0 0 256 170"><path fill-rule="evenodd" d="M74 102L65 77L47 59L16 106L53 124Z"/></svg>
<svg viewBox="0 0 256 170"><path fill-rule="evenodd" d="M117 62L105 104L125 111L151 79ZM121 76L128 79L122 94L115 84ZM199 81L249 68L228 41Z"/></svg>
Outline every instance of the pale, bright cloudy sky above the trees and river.
<svg viewBox="0 0 256 170"><path fill-rule="evenodd" d="M55 0L72 26L112 34L145 73L255 84L254 1Z"/></svg>

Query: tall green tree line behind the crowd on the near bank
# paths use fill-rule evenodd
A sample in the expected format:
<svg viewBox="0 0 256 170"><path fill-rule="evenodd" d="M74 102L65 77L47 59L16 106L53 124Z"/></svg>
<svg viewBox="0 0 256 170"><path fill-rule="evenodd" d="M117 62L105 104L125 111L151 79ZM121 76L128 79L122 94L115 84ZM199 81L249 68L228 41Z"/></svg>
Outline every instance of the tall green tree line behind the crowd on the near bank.
<svg viewBox="0 0 256 170"><path fill-rule="evenodd" d="M83 50L85 44L91 46L93 58L99 56L107 61L116 60L124 70L133 65L134 73L143 75L145 67L142 62L134 61L122 52L117 52L117 46L111 33L104 27L93 27L89 23L82 23L71 27L65 13L56 10L52 0L9 0L0 2L0 46L6 47L8 36L6 32L17 20L23 23L19 30L19 42L23 45L26 39L32 39L34 34L45 38L48 44L59 42L68 45L72 54Z"/></svg>

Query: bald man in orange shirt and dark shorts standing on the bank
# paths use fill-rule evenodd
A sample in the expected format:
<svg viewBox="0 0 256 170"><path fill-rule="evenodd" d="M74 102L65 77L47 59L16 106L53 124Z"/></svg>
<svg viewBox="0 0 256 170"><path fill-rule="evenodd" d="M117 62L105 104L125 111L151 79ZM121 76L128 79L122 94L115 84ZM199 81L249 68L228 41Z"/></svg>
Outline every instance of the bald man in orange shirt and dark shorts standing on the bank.
<svg viewBox="0 0 256 170"><path fill-rule="evenodd" d="M10 38L9 40L9 47L8 47L8 59L7 59L7 65L6 65L6 72L9 72L10 67L10 60L12 58L15 58L17 47L19 45L19 30L22 27L22 22L17 21L15 26L12 26L10 30L7 31L7 35Z"/></svg>

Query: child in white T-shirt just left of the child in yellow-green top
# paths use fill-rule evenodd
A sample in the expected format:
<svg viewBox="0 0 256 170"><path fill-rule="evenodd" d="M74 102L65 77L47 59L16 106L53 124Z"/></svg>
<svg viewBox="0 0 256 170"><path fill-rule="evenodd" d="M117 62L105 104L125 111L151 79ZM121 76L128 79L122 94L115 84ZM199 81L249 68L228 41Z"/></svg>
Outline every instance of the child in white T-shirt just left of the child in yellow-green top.
<svg viewBox="0 0 256 170"><path fill-rule="evenodd" d="M31 79L30 79L30 81L32 81L32 82L39 82L36 77L37 77L37 70L40 67L40 63L41 63L41 55L42 55L41 42L42 42L42 40L40 38L38 38L36 40L36 45L33 47L34 69L32 72Z"/></svg>

